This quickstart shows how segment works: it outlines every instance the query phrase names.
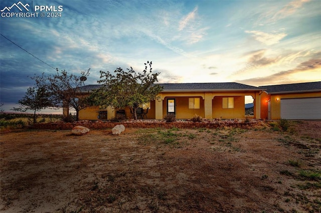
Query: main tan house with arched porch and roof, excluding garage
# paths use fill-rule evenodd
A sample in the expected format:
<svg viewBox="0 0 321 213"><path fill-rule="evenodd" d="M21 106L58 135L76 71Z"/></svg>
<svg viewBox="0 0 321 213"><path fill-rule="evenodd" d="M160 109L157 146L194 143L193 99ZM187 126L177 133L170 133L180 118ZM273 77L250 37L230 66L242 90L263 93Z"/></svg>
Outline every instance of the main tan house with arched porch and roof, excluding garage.
<svg viewBox="0 0 321 213"><path fill-rule="evenodd" d="M245 96L254 101L254 118L261 118L261 97L265 88L236 82L218 83L159 83L164 87L159 99L144 103L144 118L163 119L168 113L175 113L177 119L190 119L195 114L203 118L245 118ZM100 85L81 87L85 94ZM148 111L147 111L148 108ZM113 109L99 106L87 107L79 111L80 119L110 119L121 111L125 117L131 117L130 108Z"/></svg>

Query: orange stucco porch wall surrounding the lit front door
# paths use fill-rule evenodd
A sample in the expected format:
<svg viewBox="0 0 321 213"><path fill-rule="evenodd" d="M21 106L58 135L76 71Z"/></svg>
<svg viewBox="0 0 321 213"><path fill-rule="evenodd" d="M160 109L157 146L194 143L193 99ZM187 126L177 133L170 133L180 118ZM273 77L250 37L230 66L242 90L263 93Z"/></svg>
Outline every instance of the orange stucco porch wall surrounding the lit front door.
<svg viewBox="0 0 321 213"><path fill-rule="evenodd" d="M200 98L200 108L189 108L189 98L190 97L199 97ZM187 97L178 97L178 96L167 96L163 100L163 115L167 114L167 99L175 98L176 104L176 118L177 119L189 119L192 118L195 114L204 117L204 100L201 96L187 96ZM164 118L163 116L163 118Z"/></svg>

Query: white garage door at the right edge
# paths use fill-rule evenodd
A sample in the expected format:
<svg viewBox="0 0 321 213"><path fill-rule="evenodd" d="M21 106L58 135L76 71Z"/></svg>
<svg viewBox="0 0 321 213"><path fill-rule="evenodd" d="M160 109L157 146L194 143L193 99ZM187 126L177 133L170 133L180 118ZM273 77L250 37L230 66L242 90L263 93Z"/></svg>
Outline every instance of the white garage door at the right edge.
<svg viewBox="0 0 321 213"><path fill-rule="evenodd" d="M321 119L321 97L281 99L281 118Z"/></svg>

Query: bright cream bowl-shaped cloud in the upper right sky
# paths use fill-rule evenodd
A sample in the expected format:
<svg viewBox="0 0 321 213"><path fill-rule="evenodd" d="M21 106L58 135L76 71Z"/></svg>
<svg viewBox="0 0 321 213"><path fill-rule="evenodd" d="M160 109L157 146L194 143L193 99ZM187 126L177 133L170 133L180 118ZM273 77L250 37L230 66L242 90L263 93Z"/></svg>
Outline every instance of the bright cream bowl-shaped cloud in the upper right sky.
<svg viewBox="0 0 321 213"><path fill-rule="evenodd" d="M269 34L269 33L261 32L257 30L245 30L245 32L252 34L255 40L260 41L261 43L264 43L265 45L268 45L268 46L278 43L283 37L287 35L284 32Z"/></svg>

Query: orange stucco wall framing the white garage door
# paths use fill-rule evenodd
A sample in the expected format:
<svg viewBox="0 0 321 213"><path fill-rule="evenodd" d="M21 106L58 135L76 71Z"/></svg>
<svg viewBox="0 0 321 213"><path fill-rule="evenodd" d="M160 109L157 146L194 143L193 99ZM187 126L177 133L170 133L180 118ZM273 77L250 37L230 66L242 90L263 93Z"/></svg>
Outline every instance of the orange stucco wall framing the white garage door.
<svg viewBox="0 0 321 213"><path fill-rule="evenodd" d="M301 92L287 94L271 94L271 119L281 119L281 102L283 98L321 97L321 92ZM276 98L279 98L277 101Z"/></svg>

